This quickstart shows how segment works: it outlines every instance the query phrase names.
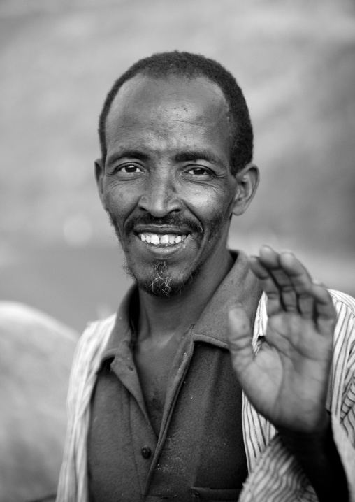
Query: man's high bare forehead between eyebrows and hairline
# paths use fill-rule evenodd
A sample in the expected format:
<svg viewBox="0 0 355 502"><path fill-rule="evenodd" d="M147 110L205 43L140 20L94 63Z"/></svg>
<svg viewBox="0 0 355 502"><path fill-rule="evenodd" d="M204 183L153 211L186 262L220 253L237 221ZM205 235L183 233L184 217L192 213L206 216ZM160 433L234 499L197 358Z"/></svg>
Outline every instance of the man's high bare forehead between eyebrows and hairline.
<svg viewBox="0 0 355 502"><path fill-rule="evenodd" d="M128 80L115 96L106 120L106 143L119 136L150 131L161 136L186 133L218 134L229 145L229 109L222 90L207 78L151 78ZM160 127L160 131L159 131ZM180 133L180 134L179 134ZM191 134L190 134L191 135Z"/></svg>

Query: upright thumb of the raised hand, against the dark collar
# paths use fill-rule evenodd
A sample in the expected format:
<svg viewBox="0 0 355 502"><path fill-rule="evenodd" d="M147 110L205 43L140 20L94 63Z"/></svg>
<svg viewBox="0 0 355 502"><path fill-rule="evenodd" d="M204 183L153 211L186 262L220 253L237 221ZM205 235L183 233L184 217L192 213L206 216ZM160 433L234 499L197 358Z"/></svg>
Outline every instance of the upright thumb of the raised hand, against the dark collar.
<svg viewBox="0 0 355 502"><path fill-rule="evenodd" d="M254 360L250 322L242 306L229 310L229 350L237 373Z"/></svg>

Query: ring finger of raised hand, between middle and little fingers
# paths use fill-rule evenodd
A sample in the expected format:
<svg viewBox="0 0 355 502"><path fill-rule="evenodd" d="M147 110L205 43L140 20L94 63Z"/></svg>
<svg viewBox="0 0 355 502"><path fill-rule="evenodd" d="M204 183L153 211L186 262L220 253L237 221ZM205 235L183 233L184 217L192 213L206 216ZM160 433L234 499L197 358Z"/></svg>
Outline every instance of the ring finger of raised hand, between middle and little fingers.
<svg viewBox="0 0 355 502"><path fill-rule="evenodd" d="M314 315L314 296L310 274L305 266L289 251L282 251L279 261L296 292L298 311L306 319L312 319Z"/></svg>

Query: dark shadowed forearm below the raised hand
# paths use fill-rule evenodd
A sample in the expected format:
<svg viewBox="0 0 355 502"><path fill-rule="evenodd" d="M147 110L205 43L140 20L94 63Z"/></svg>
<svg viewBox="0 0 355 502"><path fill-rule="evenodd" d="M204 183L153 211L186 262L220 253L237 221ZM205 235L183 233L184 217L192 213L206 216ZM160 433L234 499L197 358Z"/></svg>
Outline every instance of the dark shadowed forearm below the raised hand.
<svg viewBox="0 0 355 502"><path fill-rule="evenodd" d="M279 429L279 433L284 445L305 471L319 502L347 502L347 480L333 440L330 419L321 433L296 433L283 429Z"/></svg>

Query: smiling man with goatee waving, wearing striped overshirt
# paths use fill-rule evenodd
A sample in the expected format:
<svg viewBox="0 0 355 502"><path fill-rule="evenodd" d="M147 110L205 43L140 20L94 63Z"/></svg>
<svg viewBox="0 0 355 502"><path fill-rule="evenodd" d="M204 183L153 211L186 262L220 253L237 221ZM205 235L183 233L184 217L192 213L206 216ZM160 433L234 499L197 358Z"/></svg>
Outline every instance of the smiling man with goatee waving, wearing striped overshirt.
<svg viewBox="0 0 355 502"><path fill-rule="evenodd" d="M291 252L226 248L259 181L236 80L153 55L117 80L99 134L135 285L80 340L57 500L354 501L354 301Z"/></svg>

